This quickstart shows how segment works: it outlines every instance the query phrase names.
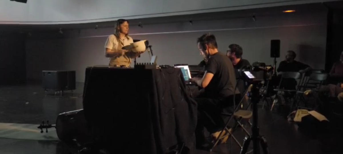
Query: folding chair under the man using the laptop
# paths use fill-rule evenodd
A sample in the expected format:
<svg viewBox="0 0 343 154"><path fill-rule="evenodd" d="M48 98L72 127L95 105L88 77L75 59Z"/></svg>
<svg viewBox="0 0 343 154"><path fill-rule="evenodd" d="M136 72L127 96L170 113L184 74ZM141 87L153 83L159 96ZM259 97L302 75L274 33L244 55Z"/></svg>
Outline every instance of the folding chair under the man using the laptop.
<svg viewBox="0 0 343 154"><path fill-rule="evenodd" d="M235 142L242 148L242 145L239 143L239 141L235 138L235 136L233 135L233 131L235 130L235 128L237 128L238 126L240 126L248 135L249 132L244 128L243 124L240 122L241 120L243 119L250 119L252 117L252 111L249 111L249 110L242 110L242 109L239 109L241 108L241 104L243 102L244 99L246 99L246 95L248 92L251 91L251 87L252 85L250 85L247 90L245 91L242 99L240 100L240 102L237 104L237 106L235 107L234 109L234 114L232 113L226 113L226 112L223 112L222 113L222 116L224 117L229 117L229 119L226 121L225 123L225 126L224 126L224 129L222 129L222 131L220 132L219 134L219 137L216 139L216 141L214 142L214 144L212 145L210 151L213 150L213 148L218 144L218 142L224 138L229 138L229 136L231 136ZM250 104L247 106L247 108L250 106ZM236 121L236 125L233 126L232 128L234 129L229 129L227 126L229 125L230 121L234 119ZM251 123L249 122L249 124L251 125ZM223 132L226 131L227 134L223 135Z"/></svg>

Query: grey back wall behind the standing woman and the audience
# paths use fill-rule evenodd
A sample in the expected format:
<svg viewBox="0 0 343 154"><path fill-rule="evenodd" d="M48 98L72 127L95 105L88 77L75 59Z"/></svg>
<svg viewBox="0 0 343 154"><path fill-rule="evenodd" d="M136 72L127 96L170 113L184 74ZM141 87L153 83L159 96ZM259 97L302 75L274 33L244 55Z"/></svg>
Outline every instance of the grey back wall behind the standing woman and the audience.
<svg viewBox="0 0 343 154"><path fill-rule="evenodd" d="M297 60L314 68L324 68L326 47L326 12L284 14L218 21L198 21L190 25L168 23L130 27L133 39L147 39L158 64L198 64L202 57L196 39L206 32L217 38L218 48L226 52L229 44L243 47L243 57L250 62L272 64L270 40L281 40L281 58L287 50L295 50ZM104 44L113 28L75 30L67 39L29 39L26 43L27 77L40 79L42 70L76 70L76 80L84 81L85 68L107 65ZM66 34L67 35L67 34ZM149 62L144 53L137 62Z"/></svg>

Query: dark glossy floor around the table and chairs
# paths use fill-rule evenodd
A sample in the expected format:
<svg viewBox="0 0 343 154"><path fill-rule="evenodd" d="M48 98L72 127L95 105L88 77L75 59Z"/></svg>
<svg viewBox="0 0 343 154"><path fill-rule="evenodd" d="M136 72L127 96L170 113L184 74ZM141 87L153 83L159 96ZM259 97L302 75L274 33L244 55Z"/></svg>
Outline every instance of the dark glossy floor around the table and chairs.
<svg viewBox="0 0 343 154"><path fill-rule="evenodd" d="M65 92L64 96L46 95L40 84L26 86L0 86L0 122L31 123L39 125L42 120L55 123L59 113L82 108L83 84L77 84L74 93ZM53 92L52 92L53 94ZM270 112L259 110L260 133L268 140L272 154L333 154L342 153L342 128L330 122L330 131L316 132L318 135L303 133L298 126L286 118ZM340 127L338 127L340 126ZM248 128L250 131L250 128ZM238 130L234 133L239 141L244 134ZM212 153L230 153L230 143L215 147ZM232 153L239 153L234 143ZM61 142L14 140L0 138L1 154L70 154L76 149ZM197 154L208 154L197 151Z"/></svg>

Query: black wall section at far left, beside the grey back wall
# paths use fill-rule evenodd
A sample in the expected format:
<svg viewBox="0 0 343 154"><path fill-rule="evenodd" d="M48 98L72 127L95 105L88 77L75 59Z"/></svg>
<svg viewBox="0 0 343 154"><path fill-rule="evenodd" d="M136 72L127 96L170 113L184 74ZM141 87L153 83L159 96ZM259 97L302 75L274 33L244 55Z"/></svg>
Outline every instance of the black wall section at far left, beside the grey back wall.
<svg viewBox="0 0 343 154"><path fill-rule="evenodd" d="M0 85L26 82L25 35L0 32Z"/></svg>

